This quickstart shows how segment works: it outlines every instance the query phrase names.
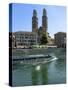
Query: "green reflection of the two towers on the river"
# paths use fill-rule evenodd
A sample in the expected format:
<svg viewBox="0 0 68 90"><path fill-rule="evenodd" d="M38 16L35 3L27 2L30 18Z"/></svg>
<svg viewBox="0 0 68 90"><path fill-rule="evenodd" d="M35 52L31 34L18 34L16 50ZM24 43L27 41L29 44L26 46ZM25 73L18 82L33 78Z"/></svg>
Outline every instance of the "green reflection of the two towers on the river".
<svg viewBox="0 0 68 90"><path fill-rule="evenodd" d="M48 83L48 73L46 66L42 67L37 71L37 69L32 69L32 85L41 85Z"/></svg>

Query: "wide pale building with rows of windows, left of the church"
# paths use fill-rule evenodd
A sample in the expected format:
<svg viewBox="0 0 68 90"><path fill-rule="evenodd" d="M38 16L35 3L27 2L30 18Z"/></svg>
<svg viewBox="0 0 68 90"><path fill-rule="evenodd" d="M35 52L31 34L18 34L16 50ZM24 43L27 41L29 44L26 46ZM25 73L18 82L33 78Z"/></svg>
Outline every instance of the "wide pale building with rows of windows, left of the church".
<svg viewBox="0 0 68 90"><path fill-rule="evenodd" d="M37 44L37 34L35 32L15 32L16 47L28 48Z"/></svg>

